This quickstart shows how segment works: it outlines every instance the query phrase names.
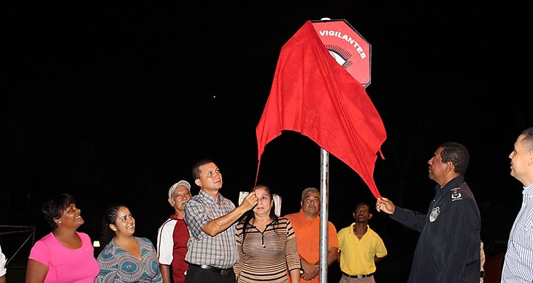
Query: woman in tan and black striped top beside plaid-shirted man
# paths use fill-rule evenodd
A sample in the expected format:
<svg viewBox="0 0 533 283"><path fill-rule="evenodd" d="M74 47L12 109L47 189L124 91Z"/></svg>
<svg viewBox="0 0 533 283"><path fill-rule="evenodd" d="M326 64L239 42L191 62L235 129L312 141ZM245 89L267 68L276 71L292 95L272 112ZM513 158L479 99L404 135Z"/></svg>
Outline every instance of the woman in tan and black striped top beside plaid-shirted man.
<svg viewBox="0 0 533 283"><path fill-rule="evenodd" d="M300 282L300 256L289 219L275 215L268 186L255 187L258 205L237 224L237 282Z"/></svg>

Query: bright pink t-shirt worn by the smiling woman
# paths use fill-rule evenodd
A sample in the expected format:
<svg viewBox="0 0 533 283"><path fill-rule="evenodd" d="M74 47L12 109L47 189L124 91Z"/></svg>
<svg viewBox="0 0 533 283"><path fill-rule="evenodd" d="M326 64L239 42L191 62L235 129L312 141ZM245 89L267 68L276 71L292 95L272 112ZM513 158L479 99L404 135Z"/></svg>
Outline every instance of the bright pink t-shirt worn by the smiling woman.
<svg viewBox="0 0 533 283"><path fill-rule="evenodd" d="M50 233L37 241L30 252L30 259L48 265L44 282L93 283L100 266L94 258L91 238L76 232L82 239L81 248L66 248Z"/></svg>

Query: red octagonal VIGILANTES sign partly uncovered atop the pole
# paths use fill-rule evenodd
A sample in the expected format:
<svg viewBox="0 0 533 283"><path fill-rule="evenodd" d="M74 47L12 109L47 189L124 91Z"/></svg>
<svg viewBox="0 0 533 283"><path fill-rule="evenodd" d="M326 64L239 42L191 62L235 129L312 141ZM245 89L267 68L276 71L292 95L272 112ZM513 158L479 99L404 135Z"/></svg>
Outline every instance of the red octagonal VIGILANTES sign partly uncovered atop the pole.
<svg viewBox="0 0 533 283"><path fill-rule="evenodd" d="M311 23L337 63L365 88L370 85L370 43L343 19Z"/></svg>

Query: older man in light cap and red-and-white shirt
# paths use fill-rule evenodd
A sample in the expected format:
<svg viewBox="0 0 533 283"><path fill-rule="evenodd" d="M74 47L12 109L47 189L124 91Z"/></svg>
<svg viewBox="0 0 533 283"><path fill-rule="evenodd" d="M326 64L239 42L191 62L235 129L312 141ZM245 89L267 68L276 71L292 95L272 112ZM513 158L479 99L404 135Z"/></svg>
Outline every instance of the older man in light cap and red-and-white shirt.
<svg viewBox="0 0 533 283"><path fill-rule="evenodd" d="M170 265L174 283L185 282L188 264L185 262L189 231L183 221L185 204L190 199L190 184L181 180L168 189L168 203L174 207L174 214L159 227L157 232L157 257L163 282L170 280Z"/></svg>

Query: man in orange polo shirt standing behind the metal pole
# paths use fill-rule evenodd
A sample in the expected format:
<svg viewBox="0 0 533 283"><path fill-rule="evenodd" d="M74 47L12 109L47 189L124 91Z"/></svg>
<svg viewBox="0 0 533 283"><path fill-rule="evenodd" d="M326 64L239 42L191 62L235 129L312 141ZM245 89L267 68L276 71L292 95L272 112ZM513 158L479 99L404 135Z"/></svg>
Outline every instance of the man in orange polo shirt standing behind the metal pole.
<svg viewBox="0 0 533 283"><path fill-rule="evenodd" d="M291 222L298 253L302 261L303 273L300 278L305 282L318 283L320 271L320 191L317 188L306 188L302 192L301 210L298 213L285 215ZM337 231L332 222L327 222L327 266L337 258Z"/></svg>

